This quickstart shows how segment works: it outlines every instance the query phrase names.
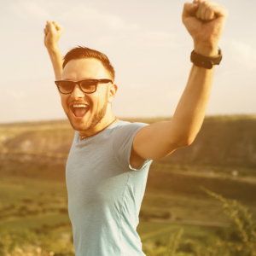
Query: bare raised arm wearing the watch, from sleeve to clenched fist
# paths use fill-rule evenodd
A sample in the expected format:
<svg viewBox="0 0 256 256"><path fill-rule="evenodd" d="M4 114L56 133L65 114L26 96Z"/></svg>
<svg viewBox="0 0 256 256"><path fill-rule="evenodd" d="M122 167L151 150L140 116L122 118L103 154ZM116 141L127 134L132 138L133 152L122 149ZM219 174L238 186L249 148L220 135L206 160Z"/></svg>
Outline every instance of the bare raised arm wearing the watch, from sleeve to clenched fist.
<svg viewBox="0 0 256 256"><path fill-rule="evenodd" d="M207 57L218 55L218 40L227 16L227 9L209 1L184 4L183 24L194 40L195 53ZM160 160L194 141L207 110L213 71L214 67L193 65L172 120L145 126L137 132L131 149L131 166L138 168L145 159Z"/></svg>

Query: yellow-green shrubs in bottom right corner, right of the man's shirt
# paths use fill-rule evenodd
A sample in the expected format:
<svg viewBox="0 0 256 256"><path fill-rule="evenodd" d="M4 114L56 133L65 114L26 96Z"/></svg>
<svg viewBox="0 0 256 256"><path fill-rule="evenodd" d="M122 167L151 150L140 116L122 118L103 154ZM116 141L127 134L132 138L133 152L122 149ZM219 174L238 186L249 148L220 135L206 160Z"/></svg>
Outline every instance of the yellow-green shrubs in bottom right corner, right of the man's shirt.
<svg viewBox="0 0 256 256"><path fill-rule="evenodd" d="M256 224L252 214L236 200L228 200L208 189L201 189L222 203L232 225L229 234L218 230L221 239L208 247L200 247L192 240L180 244L183 233L180 230L176 236L171 236L167 246L146 242L143 246L147 256L256 256Z"/></svg>

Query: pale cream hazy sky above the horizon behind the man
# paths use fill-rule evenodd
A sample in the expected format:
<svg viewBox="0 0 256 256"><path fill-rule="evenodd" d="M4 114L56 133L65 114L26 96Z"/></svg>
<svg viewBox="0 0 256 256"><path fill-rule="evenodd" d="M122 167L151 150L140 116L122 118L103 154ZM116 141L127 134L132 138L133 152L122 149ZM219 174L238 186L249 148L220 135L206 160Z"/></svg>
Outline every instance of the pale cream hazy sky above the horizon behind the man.
<svg viewBox="0 0 256 256"><path fill-rule="evenodd" d="M172 116L189 77L193 41L184 1L9 0L0 9L0 123L66 119L44 47L46 20L64 27L62 55L77 45L108 55L119 86L113 113ZM219 42L207 114L256 113L256 1L218 0L230 11Z"/></svg>

